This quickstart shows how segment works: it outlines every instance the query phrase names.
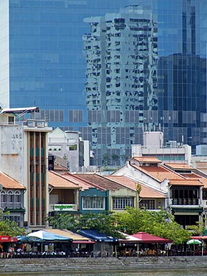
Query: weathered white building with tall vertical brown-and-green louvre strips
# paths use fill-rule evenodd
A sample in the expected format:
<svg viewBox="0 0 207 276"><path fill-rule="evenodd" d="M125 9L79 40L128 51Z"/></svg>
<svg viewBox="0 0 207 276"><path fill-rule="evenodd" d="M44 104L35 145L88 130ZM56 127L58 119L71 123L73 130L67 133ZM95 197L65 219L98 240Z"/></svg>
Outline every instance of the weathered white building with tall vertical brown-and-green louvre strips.
<svg viewBox="0 0 207 276"><path fill-rule="evenodd" d="M14 113L0 115L0 170L26 187L24 226L42 228L48 216L48 128L46 121L15 123Z"/></svg>

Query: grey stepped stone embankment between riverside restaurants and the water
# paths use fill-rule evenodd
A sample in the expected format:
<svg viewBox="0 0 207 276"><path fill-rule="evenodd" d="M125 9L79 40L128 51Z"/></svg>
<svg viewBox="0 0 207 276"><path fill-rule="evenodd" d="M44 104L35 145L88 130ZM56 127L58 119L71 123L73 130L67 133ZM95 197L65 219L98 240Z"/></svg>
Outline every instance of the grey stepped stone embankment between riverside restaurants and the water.
<svg viewBox="0 0 207 276"><path fill-rule="evenodd" d="M88 257L48 259L0 259L1 273L90 271L90 270L162 270L207 268L207 256L173 257Z"/></svg>

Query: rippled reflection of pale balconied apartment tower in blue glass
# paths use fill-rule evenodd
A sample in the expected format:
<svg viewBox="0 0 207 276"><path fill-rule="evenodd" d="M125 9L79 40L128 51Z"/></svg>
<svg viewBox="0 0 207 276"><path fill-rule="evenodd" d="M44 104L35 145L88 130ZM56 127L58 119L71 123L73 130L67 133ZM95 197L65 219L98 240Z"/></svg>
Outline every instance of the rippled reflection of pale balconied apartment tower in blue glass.
<svg viewBox="0 0 207 276"><path fill-rule="evenodd" d="M100 156L128 155L144 124L148 130L157 124L157 23L141 6L84 21L91 26L83 48L92 146L101 146Z"/></svg>

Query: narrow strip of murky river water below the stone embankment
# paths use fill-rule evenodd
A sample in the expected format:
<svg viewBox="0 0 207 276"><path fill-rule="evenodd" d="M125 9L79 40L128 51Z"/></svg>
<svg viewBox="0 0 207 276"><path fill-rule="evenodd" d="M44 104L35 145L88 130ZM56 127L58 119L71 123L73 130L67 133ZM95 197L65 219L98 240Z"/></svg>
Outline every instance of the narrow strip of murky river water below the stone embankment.
<svg viewBox="0 0 207 276"><path fill-rule="evenodd" d="M63 271L56 271L54 273L52 272L41 272L41 273L1 273L0 276L207 276L207 271L204 268L185 268L185 269L175 269L175 270L139 270L139 272L133 271L128 271L128 272L115 272L115 271L110 271L110 272L97 272L97 271L91 271L89 273L80 273L77 271L68 271L68 272L63 272Z"/></svg>

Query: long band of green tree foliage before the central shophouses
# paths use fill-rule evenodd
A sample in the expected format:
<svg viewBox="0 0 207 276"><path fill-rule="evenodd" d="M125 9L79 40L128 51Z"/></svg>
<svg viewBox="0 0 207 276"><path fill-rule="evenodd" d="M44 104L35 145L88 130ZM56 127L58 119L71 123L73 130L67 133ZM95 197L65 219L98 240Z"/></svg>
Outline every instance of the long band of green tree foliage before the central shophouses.
<svg viewBox="0 0 207 276"><path fill-rule="evenodd" d="M88 213L74 218L72 215L56 214L48 221L53 228L66 228L77 231L81 229L96 229L99 233L106 233L112 237L121 237L120 232L129 235L137 232L146 232L166 239L172 239L174 244L183 244L193 232L185 230L175 221L166 210L145 210L127 208L122 213L106 215ZM116 222L116 223L115 223Z"/></svg>

